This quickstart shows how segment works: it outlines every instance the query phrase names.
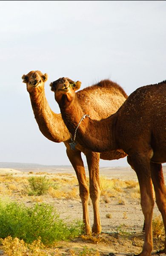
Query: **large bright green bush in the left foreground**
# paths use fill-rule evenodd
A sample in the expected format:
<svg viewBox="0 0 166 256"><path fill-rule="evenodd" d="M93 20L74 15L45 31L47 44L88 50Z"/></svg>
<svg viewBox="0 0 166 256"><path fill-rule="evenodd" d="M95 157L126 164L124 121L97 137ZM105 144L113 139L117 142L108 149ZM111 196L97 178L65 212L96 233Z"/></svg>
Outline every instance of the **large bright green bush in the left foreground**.
<svg viewBox="0 0 166 256"><path fill-rule="evenodd" d="M56 210L47 204L26 207L23 204L0 202L0 238L23 239L26 243L40 239L43 244L67 240L80 235L82 221L65 223Z"/></svg>

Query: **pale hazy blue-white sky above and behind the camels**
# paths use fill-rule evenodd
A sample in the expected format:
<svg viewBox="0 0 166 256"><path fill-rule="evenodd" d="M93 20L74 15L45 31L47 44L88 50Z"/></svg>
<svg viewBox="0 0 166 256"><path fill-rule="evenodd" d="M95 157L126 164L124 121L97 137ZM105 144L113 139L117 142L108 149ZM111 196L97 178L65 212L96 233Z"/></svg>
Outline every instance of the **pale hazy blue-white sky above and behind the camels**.
<svg viewBox="0 0 166 256"><path fill-rule="evenodd" d="M111 79L128 95L166 79L166 1L1 0L0 24L0 162L71 165L64 143L41 134L23 74L48 73L55 113L49 84L62 76L80 89ZM129 165L100 160L114 166Z"/></svg>

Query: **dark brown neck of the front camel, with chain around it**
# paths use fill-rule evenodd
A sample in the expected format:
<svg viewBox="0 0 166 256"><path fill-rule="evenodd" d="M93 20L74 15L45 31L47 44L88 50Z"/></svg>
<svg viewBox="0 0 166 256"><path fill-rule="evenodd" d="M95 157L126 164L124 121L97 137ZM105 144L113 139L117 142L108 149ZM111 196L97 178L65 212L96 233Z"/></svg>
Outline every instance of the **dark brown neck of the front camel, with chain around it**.
<svg viewBox="0 0 166 256"><path fill-rule="evenodd" d="M70 107L60 108L60 110L63 120L74 138L75 129L80 119L84 114L88 113L83 112L83 109L77 101L77 95L75 95L74 101ZM76 141L96 152L117 149L114 136L115 122L115 115L103 119L102 121L92 120L91 117L86 116L77 128Z"/></svg>

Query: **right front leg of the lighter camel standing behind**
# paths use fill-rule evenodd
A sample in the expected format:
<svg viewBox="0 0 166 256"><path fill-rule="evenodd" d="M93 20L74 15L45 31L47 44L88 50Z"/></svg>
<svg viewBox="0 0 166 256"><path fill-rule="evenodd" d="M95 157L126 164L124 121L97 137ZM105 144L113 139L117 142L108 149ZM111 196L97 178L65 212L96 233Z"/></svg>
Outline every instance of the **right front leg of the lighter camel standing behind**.
<svg viewBox="0 0 166 256"><path fill-rule="evenodd" d="M100 154L92 151L86 153L86 160L89 169L89 192L92 200L93 212L94 212L94 223L92 226L92 232L96 234L101 233L100 223L100 211L99 211L99 200L100 200L100 177L99 177L99 161Z"/></svg>

